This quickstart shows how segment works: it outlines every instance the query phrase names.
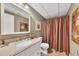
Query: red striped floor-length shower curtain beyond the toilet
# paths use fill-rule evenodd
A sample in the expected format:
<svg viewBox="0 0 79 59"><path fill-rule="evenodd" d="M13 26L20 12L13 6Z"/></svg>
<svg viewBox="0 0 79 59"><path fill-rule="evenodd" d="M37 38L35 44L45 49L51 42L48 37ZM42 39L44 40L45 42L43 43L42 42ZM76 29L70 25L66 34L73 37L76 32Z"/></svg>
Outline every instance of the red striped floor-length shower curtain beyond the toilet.
<svg viewBox="0 0 79 59"><path fill-rule="evenodd" d="M43 42L49 50L65 52L69 55L69 16L53 18L42 22Z"/></svg>

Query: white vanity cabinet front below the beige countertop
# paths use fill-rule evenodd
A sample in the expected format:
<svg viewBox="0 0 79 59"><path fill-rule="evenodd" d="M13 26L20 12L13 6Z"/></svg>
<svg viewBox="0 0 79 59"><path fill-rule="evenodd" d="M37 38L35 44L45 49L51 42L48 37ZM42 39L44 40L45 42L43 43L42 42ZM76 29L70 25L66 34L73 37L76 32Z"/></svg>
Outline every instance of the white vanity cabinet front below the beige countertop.
<svg viewBox="0 0 79 59"><path fill-rule="evenodd" d="M33 44L32 46L28 47L27 49L17 54L16 56L40 56L41 55L40 44L41 41Z"/></svg>

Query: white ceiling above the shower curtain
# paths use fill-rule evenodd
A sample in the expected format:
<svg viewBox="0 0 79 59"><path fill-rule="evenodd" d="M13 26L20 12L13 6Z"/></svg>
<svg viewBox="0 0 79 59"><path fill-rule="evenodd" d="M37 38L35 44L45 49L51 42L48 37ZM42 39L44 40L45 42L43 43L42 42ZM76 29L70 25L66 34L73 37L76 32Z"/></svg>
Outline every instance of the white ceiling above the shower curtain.
<svg viewBox="0 0 79 59"><path fill-rule="evenodd" d="M67 15L71 3L28 3L44 18L49 19Z"/></svg>

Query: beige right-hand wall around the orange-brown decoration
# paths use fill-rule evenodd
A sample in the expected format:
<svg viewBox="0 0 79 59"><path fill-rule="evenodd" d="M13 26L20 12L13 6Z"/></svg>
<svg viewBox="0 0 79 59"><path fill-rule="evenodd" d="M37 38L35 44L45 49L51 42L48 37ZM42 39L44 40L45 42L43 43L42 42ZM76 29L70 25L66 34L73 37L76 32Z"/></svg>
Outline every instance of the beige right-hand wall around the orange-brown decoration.
<svg viewBox="0 0 79 59"><path fill-rule="evenodd" d="M79 7L79 4L75 3L71 5L71 8L68 12L69 16L70 16L70 27L72 27L72 13L74 12L74 10ZM71 32L72 28L70 28L70 36L72 35ZM72 41L72 37L70 37L70 55L77 55L77 50L79 50L79 45L77 45L76 43L74 43Z"/></svg>

